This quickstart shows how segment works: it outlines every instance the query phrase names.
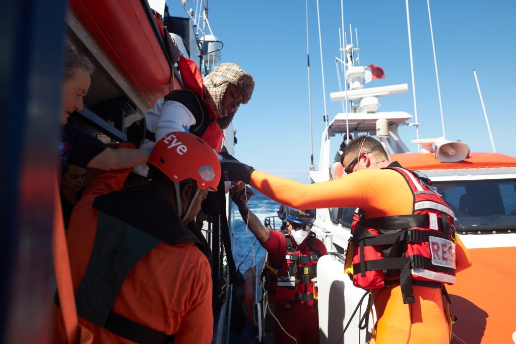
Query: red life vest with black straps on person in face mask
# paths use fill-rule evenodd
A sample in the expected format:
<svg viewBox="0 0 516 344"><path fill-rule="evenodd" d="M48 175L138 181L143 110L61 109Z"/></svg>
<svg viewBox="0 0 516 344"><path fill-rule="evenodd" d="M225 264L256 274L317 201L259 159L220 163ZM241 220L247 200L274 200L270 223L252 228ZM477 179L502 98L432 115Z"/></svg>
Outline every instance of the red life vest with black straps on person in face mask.
<svg viewBox="0 0 516 344"><path fill-rule="evenodd" d="M314 248L315 234L310 233L307 240L310 250L301 252L294 246L288 232L283 230L287 252L280 267L266 263L263 274L267 280L269 301L285 305L293 303L317 304L317 260L321 253Z"/></svg>

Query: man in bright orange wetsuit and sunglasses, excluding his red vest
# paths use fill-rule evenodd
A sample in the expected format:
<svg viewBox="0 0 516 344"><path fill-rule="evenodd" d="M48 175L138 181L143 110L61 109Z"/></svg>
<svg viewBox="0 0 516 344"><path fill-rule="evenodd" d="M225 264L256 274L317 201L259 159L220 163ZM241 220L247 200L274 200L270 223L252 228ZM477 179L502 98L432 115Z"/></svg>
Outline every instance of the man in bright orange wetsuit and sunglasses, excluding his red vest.
<svg viewBox="0 0 516 344"><path fill-rule="evenodd" d="M299 209L359 207L367 220L414 214L414 192L408 179L392 168L399 164L389 162L378 141L370 137L353 140L341 161L347 175L309 185L254 170L229 156L222 162L222 169L226 179L245 181L269 198ZM430 192L425 190L423 192ZM453 212L451 214L453 218ZM448 216L445 218L449 220ZM357 221L353 223L356 224ZM455 253L456 271L471 265L469 254L458 237ZM401 286L394 281L372 290L378 319L372 342L449 342L441 289L414 284L412 290L412 303L404 303Z"/></svg>

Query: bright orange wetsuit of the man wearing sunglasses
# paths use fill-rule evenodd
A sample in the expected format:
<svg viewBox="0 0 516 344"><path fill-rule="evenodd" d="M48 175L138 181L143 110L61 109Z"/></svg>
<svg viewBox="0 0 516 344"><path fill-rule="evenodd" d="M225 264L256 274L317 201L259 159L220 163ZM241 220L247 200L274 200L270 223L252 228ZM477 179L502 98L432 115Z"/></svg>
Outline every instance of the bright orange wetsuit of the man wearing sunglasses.
<svg viewBox="0 0 516 344"><path fill-rule="evenodd" d="M405 178L394 170L367 169L324 183L301 184L254 170L250 185L278 203L297 209L359 207L367 218L411 215L413 196ZM460 239L457 271L471 265ZM373 291L377 333L372 343L448 343L448 324L440 289L413 286L415 303L404 304L401 288Z"/></svg>

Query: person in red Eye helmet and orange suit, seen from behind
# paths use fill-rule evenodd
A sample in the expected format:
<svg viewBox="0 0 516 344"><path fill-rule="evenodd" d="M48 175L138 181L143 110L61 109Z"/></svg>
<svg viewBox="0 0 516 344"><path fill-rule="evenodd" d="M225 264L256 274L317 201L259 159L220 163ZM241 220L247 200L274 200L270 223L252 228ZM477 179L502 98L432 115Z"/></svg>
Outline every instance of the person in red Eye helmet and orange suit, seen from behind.
<svg viewBox="0 0 516 344"><path fill-rule="evenodd" d="M103 172L74 208L67 241L79 323L94 343L211 343L211 251L192 219L217 189L220 163L179 132L158 141L148 163L147 189L116 191L130 169Z"/></svg>

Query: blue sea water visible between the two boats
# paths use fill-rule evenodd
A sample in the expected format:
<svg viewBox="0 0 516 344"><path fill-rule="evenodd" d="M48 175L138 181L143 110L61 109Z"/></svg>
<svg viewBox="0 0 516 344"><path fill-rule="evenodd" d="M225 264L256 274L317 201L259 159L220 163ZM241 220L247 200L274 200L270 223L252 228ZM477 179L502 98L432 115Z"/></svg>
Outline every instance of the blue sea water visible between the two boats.
<svg viewBox="0 0 516 344"><path fill-rule="evenodd" d="M277 216L277 211L280 208L280 204L276 203L262 193L253 189L254 196L249 200L249 209L262 221L264 222L266 217ZM236 207L235 207L236 209ZM276 217L276 224L279 227L281 220ZM253 251L251 247L254 247L255 260L259 260L265 255L265 249L260 245L260 242L256 240L256 237L251 231L246 231L246 223L240 217L238 209L235 210L234 218L234 248L233 255L235 258L236 266L240 266L239 270L241 273L245 273L253 263Z"/></svg>

